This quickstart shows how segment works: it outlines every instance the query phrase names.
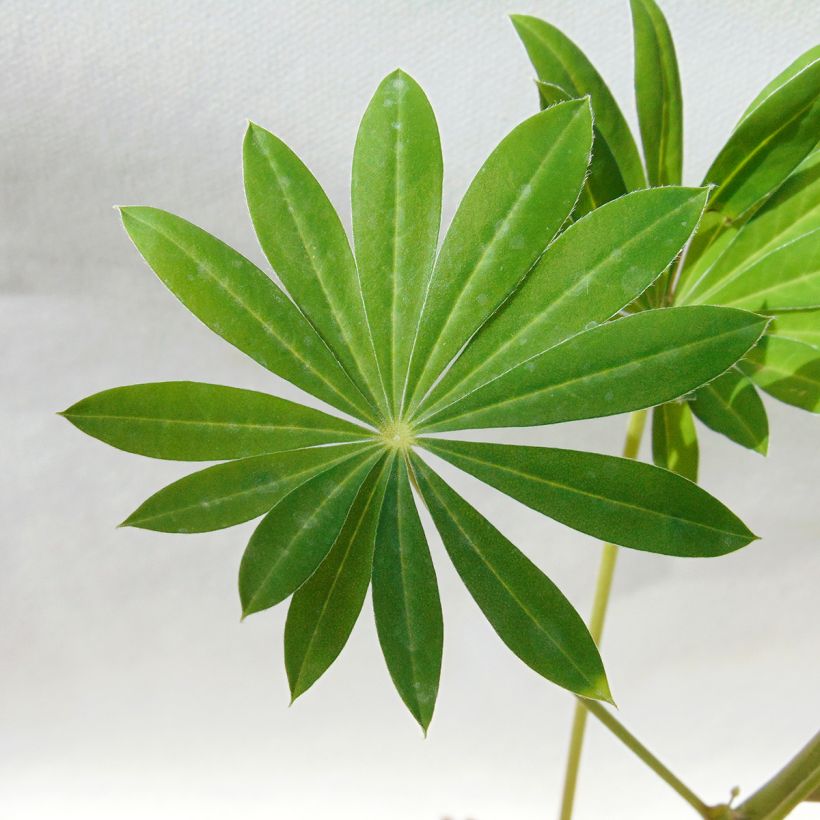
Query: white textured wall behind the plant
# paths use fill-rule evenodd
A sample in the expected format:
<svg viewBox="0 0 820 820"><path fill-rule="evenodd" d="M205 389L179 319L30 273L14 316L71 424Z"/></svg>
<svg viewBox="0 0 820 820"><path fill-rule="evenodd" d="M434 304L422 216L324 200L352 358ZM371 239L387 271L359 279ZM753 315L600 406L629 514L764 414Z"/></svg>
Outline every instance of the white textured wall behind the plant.
<svg viewBox="0 0 820 820"><path fill-rule="evenodd" d="M696 182L757 90L818 39L820 15L809 0L663 5ZM4 0L3 820L553 816L571 699L500 644L437 542L446 648L430 737L391 690L369 608L337 664L288 709L284 608L238 622L236 569L252 525L189 537L115 530L185 467L109 450L53 411L166 378L295 393L180 308L112 204L176 211L261 262L241 188L245 119L285 138L346 219L358 119L399 65L439 117L449 219L486 154L534 110L506 14L560 25L634 120L627 8ZM622 718L712 801L736 783L751 790L820 724L820 430L770 408L766 461L702 436L706 487L764 540L712 562L623 553L604 646ZM616 452L623 426L499 439ZM448 475L586 611L591 539ZM690 816L591 728L579 820Z"/></svg>

